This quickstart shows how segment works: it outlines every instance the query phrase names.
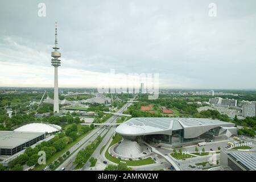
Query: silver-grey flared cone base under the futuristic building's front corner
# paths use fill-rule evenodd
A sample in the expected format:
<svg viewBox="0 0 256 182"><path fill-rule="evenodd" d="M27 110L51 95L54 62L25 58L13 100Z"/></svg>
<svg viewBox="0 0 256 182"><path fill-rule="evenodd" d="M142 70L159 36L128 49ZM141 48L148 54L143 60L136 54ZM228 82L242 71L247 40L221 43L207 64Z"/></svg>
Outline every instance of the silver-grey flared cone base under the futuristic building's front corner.
<svg viewBox="0 0 256 182"><path fill-rule="evenodd" d="M114 148L114 152L120 156L129 158L139 156L139 154L143 152L143 149L137 142L123 139L122 142Z"/></svg>

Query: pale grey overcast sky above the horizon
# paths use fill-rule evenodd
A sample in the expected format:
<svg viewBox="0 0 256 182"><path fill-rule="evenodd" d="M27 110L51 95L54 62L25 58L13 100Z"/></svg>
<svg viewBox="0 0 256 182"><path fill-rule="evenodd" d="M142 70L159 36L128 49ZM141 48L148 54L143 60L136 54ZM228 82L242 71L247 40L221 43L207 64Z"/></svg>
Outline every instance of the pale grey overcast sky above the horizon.
<svg viewBox="0 0 256 182"><path fill-rule="evenodd" d="M256 88L255 0L1 0L0 86L53 86L55 21L60 87L94 87L115 69L159 73L162 88Z"/></svg>

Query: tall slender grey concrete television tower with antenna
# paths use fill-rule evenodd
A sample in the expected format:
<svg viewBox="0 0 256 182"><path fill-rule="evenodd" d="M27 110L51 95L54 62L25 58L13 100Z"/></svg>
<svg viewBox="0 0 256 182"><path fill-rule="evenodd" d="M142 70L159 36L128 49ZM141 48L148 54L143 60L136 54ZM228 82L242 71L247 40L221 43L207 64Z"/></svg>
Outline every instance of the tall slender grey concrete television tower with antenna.
<svg viewBox="0 0 256 182"><path fill-rule="evenodd" d="M52 65L54 67L54 104L53 104L53 113L59 113L59 87L58 87L58 67L60 66L61 53L58 51L57 47L57 22L55 26L55 47L52 51Z"/></svg>

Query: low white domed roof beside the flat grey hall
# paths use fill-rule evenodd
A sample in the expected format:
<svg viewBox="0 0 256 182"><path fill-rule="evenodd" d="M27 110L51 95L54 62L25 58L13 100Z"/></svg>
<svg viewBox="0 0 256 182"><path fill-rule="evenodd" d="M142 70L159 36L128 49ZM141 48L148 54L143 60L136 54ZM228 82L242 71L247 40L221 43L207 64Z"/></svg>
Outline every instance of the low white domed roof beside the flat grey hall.
<svg viewBox="0 0 256 182"><path fill-rule="evenodd" d="M19 127L18 129L15 129L14 131L54 133L60 130L61 127L58 125L52 125L47 123L29 123L27 125Z"/></svg>

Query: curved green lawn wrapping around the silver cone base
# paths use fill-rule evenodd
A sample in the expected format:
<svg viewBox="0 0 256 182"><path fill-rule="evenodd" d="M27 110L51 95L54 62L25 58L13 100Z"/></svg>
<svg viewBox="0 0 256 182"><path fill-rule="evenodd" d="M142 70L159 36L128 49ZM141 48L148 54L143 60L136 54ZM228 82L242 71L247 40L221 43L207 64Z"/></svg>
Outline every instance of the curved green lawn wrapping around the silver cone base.
<svg viewBox="0 0 256 182"><path fill-rule="evenodd" d="M113 144L115 144L121 140L122 140L121 135L115 134L115 138L112 140L109 147L113 146ZM113 163L116 163L116 164L126 163L127 166L142 166L142 165L155 163L155 161L152 158L146 158L146 159L142 159L142 160L123 160L123 159L114 158L113 156L111 156L109 154L109 147L108 147L108 150L106 150L106 152L105 152L105 157Z"/></svg>

